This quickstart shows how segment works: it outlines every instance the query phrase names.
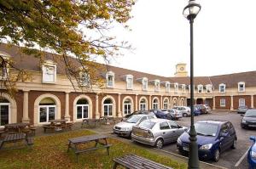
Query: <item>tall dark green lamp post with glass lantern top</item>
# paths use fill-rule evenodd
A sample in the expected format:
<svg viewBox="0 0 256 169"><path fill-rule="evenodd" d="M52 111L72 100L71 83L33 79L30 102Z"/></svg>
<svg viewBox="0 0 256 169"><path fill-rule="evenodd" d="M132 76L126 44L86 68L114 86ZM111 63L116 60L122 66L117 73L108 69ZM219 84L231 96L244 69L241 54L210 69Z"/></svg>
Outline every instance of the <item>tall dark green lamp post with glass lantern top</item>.
<svg viewBox="0 0 256 169"><path fill-rule="evenodd" d="M196 144L196 131L194 125L194 59L193 59L193 23L196 15L201 10L201 5L195 0L189 0L189 4L183 9L183 16L190 24L190 109L191 125L189 130L189 166L188 168L199 168L198 147Z"/></svg>

